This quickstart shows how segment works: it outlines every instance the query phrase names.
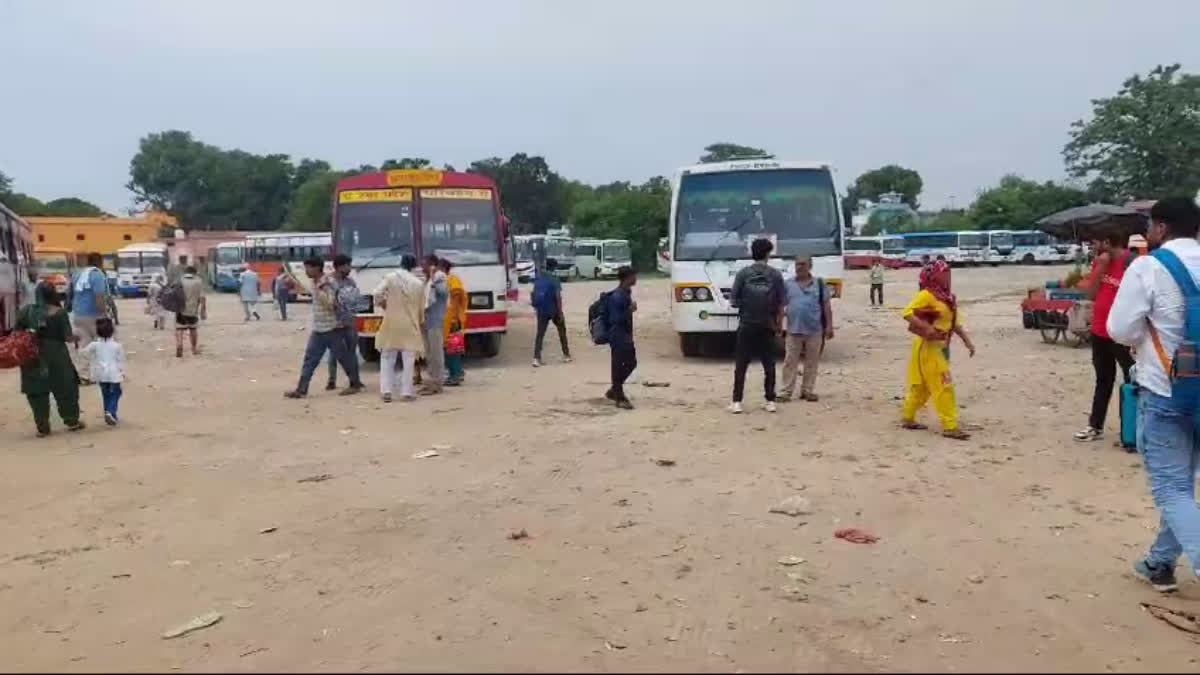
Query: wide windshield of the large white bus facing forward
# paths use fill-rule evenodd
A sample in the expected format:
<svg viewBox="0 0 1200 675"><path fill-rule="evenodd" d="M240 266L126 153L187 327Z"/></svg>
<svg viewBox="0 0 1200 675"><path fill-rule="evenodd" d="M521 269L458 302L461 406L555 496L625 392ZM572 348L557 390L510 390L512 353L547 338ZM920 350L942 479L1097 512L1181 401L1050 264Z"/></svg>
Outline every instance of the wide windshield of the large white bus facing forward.
<svg viewBox="0 0 1200 675"><path fill-rule="evenodd" d="M773 239L774 256L841 252L838 197L828 169L685 174L676 213L676 259L740 259L750 241Z"/></svg>

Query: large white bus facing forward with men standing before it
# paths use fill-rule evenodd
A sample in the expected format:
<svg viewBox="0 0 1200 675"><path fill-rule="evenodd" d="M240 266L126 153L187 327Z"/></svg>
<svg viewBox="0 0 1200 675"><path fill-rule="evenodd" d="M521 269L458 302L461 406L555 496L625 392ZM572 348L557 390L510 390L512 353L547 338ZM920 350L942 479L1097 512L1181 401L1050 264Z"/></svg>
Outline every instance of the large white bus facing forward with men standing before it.
<svg viewBox="0 0 1200 675"><path fill-rule="evenodd" d="M671 321L684 356L712 334L731 334L733 277L751 263L750 244L775 244L770 264L792 273L812 256L812 274L841 294L844 223L833 169L824 163L746 160L696 165L672 180Z"/></svg>

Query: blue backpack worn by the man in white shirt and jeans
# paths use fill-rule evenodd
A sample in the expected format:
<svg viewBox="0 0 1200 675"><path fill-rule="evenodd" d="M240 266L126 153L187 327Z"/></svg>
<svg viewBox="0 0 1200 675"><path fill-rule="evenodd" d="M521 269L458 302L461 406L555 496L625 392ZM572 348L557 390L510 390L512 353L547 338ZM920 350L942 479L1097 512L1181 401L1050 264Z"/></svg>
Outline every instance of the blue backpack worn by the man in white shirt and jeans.
<svg viewBox="0 0 1200 675"><path fill-rule="evenodd" d="M1153 324L1150 325L1150 336L1171 381L1171 404L1176 410L1193 413L1200 426L1200 288L1175 253L1157 249L1151 256L1163 263L1183 293L1183 340L1175 354L1168 358Z"/></svg>

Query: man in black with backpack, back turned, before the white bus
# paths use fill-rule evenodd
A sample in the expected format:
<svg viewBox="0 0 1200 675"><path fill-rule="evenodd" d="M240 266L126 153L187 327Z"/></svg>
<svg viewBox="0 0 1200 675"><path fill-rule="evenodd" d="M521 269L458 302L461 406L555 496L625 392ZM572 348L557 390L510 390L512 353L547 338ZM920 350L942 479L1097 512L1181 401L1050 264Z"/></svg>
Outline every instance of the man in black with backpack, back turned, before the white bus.
<svg viewBox="0 0 1200 675"><path fill-rule="evenodd" d="M754 263L733 277L730 303L738 309L738 335L730 412L734 414L742 413L742 394L751 359L762 363L767 412L775 412L775 335L787 291L784 275L767 262L774 247L769 239L755 239L750 244Z"/></svg>

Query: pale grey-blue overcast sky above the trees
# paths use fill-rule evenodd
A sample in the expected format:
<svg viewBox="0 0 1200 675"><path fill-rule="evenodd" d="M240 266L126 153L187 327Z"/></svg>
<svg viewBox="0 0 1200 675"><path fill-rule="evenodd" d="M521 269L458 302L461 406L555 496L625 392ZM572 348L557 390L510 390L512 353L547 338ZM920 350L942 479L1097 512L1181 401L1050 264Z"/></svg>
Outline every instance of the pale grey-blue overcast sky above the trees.
<svg viewBox="0 0 1200 675"><path fill-rule="evenodd" d="M0 0L0 171L116 213L182 129L336 167L541 154L640 181L714 141L916 168L923 202L1062 178L1088 101L1200 65L1195 0Z"/></svg>

